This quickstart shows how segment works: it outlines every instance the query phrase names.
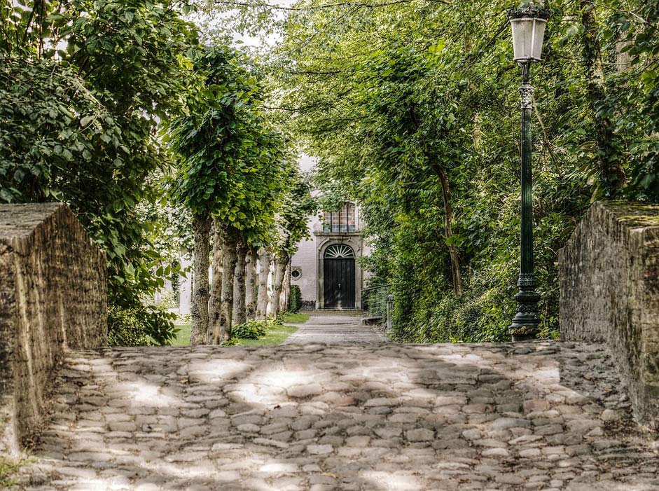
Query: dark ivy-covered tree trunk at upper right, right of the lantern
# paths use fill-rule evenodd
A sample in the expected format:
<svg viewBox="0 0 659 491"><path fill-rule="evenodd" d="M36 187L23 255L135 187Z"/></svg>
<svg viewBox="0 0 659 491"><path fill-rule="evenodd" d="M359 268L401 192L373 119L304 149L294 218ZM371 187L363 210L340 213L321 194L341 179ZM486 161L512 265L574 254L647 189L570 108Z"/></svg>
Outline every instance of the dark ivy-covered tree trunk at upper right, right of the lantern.
<svg viewBox="0 0 659 491"><path fill-rule="evenodd" d="M581 0L583 26L583 66L585 68L586 98L592 113L595 144L597 145L597 174L599 191L604 198L615 199L625 185L625 170L616 150L616 134L609 116L601 111L606 100L602 47L599 45L597 13L590 0Z"/></svg>

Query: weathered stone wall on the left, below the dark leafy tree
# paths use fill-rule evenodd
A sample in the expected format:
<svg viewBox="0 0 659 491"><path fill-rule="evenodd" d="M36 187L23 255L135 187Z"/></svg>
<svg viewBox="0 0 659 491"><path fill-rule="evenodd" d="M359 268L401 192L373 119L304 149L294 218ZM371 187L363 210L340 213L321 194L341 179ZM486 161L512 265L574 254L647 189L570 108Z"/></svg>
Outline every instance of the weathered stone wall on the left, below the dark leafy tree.
<svg viewBox="0 0 659 491"><path fill-rule="evenodd" d="M67 205L0 205L0 453L38 431L67 349L106 344L106 261Z"/></svg>

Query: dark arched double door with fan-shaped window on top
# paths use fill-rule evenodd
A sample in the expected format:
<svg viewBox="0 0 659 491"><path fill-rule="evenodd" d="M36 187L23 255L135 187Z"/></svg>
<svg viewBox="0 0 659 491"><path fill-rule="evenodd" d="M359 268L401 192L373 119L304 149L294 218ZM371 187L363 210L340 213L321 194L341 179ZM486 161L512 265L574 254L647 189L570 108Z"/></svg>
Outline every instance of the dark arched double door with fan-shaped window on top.
<svg viewBox="0 0 659 491"><path fill-rule="evenodd" d="M354 250L346 244L325 249L323 261L324 307L354 308Z"/></svg>

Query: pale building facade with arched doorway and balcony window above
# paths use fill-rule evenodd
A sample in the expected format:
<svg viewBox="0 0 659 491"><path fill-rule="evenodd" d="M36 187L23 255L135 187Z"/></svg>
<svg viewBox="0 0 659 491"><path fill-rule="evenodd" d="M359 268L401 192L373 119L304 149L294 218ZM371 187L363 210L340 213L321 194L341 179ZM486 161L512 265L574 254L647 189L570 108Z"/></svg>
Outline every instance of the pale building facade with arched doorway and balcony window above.
<svg viewBox="0 0 659 491"><path fill-rule="evenodd" d="M291 260L291 284L300 286L303 305L317 309L361 309L366 279L359 258L368 255L359 209L345 202L338 212L309 220L310 239Z"/></svg>

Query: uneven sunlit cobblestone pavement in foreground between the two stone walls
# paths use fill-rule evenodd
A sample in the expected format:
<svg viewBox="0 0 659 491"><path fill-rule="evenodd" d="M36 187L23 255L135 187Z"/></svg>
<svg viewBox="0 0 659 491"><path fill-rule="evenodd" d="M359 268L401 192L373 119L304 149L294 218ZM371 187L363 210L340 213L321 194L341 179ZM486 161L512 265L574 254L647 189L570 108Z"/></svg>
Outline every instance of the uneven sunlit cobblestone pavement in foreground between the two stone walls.
<svg viewBox="0 0 659 491"><path fill-rule="evenodd" d="M601 345L76 352L32 490L659 490Z"/></svg>

